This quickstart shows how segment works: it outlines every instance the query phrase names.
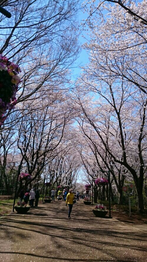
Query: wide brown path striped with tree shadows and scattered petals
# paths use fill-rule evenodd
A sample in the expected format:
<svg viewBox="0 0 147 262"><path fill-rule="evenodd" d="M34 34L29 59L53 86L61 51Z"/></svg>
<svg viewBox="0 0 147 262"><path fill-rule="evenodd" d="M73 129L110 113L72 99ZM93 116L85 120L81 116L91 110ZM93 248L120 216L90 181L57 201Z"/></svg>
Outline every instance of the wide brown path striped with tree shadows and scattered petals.
<svg viewBox="0 0 147 262"><path fill-rule="evenodd" d="M97 218L78 202L72 219L63 201L39 203L26 215L0 220L0 261L147 261L146 225Z"/></svg>

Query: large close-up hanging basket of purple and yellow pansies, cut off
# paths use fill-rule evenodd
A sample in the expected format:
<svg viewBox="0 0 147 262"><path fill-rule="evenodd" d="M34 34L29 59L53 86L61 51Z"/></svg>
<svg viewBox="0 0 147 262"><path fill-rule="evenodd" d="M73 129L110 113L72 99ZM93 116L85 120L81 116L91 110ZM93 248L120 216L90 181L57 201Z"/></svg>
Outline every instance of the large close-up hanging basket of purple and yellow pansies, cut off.
<svg viewBox="0 0 147 262"><path fill-rule="evenodd" d="M5 114L16 105L16 92L21 83L19 72L18 65L0 54L0 127L7 118Z"/></svg>

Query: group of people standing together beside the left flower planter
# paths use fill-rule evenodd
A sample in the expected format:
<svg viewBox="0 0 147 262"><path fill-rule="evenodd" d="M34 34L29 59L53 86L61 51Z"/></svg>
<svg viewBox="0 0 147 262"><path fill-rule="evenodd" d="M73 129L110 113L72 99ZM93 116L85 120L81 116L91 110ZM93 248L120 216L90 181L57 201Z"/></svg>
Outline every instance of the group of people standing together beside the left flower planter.
<svg viewBox="0 0 147 262"><path fill-rule="evenodd" d="M28 204L30 207L34 207L34 201L35 201L35 207L38 207L38 201L39 201L39 190L34 187L31 190L27 189L26 193L24 193L24 189L20 191L19 194L20 202L24 201L25 204Z"/></svg>

